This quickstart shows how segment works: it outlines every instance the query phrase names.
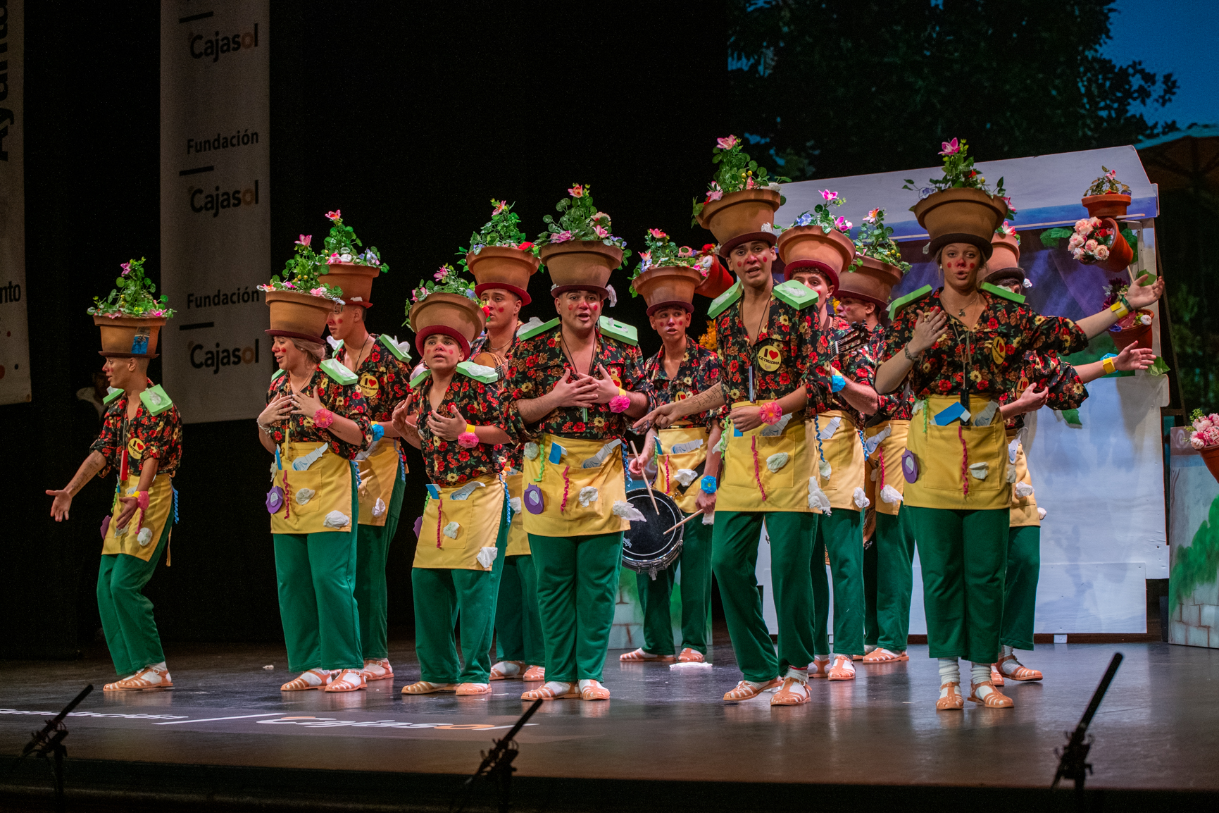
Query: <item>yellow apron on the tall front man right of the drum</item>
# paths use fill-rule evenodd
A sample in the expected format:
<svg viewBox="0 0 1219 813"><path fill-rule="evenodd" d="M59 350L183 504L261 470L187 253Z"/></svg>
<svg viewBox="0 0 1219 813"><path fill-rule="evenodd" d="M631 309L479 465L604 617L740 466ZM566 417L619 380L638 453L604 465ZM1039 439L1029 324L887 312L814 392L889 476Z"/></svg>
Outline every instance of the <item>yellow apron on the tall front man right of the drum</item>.
<svg viewBox="0 0 1219 813"><path fill-rule="evenodd" d="M750 401L739 401L733 407L744 406ZM757 406L769 401L756 401ZM797 511L808 509L808 474L801 463L805 458L805 422L800 414L794 414L783 434L762 436L768 429L762 424L757 429L742 433L740 438L728 424L724 434L728 447L724 462L720 464L723 477L716 497L716 511ZM787 462L772 472L767 461L774 455L786 452Z"/></svg>

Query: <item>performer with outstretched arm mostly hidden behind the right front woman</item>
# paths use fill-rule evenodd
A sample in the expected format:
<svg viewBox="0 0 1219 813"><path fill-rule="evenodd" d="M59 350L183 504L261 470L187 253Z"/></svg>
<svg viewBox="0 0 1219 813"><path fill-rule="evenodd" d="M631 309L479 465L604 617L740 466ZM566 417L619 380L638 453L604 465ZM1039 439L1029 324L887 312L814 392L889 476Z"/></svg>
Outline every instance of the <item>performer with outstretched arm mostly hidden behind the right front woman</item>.
<svg viewBox="0 0 1219 813"><path fill-rule="evenodd" d="M996 234L995 256L1000 255ZM1015 247L1015 258L1019 249ZM990 263L987 263L990 264ZM1023 295L1026 278L1018 266L989 272L985 282ZM1008 464L1014 467L1012 508L1007 541L1007 570L1003 581L1003 624L1000 629L1002 651L991 667L991 681L1041 680L1039 669L1025 667L1014 650L1032 650L1032 622L1037 603L1037 579L1041 574L1041 518L1032 478L1022 442L1024 416L1046 406L1052 410L1076 410L1087 397L1085 384L1115 371L1147 369L1156 360L1151 349L1128 345L1118 355L1073 367L1057 355L1025 353L1025 369L1014 392L1008 394L1000 411L1007 431Z"/></svg>

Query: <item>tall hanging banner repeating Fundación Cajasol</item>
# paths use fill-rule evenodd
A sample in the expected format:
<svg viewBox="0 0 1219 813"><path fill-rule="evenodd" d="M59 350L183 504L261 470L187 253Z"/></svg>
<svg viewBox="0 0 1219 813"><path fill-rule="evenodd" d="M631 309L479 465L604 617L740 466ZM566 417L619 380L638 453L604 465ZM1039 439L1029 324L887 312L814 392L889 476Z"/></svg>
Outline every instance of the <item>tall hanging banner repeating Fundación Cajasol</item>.
<svg viewBox="0 0 1219 813"><path fill-rule="evenodd" d="M161 339L185 423L252 418L274 369L269 0L161 4Z"/></svg>

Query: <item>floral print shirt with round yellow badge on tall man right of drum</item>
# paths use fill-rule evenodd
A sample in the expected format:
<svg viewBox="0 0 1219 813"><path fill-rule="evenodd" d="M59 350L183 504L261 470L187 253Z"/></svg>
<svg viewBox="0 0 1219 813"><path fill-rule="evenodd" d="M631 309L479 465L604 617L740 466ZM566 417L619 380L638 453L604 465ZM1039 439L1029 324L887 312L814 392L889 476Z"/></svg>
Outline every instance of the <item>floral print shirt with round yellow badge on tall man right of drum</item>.
<svg viewBox="0 0 1219 813"><path fill-rule="evenodd" d="M716 318L716 346L723 374L724 403L750 400L750 369L753 369L753 400L772 401L797 386L808 389L808 400L830 397L829 340L813 327L817 308L797 311L770 297L770 317L750 346L737 300Z"/></svg>

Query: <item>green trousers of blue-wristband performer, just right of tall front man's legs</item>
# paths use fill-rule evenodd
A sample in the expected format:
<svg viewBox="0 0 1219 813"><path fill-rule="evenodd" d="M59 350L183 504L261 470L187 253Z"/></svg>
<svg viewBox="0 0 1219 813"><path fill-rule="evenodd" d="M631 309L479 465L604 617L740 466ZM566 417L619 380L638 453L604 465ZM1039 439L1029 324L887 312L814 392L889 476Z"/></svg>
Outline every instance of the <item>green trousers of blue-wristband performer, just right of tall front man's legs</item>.
<svg viewBox="0 0 1219 813"><path fill-rule="evenodd" d="M829 655L830 585L825 580L825 552L834 577L834 652L863 655L863 512L834 508L817 523L813 546L813 651Z"/></svg>

